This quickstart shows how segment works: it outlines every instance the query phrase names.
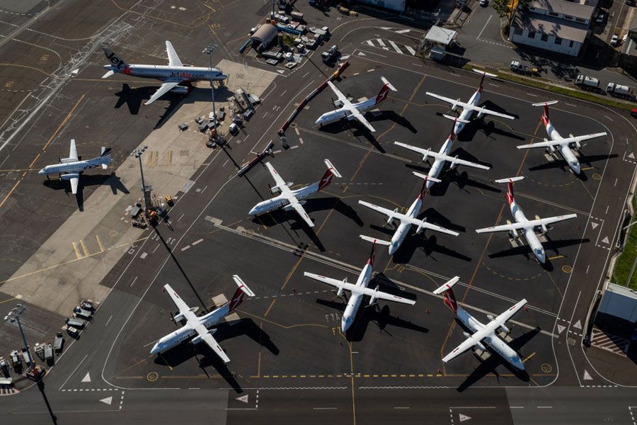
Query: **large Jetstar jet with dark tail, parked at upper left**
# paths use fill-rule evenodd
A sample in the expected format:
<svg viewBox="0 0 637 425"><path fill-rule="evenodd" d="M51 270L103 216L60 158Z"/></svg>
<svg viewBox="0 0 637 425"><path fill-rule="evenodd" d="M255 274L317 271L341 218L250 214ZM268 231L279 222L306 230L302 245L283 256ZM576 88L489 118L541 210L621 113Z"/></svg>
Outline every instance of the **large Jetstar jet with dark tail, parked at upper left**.
<svg viewBox="0 0 637 425"><path fill-rule="evenodd" d="M163 81L161 87L144 103L150 105L168 91L179 94L188 94L190 81L221 81L228 76L219 69L212 67L186 67L181 63L177 52L171 42L166 41L166 53L168 54L168 66L166 65L132 65L120 59L113 50L104 47L104 54L110 61L110 65L104 65L108 72L102 78L108 78L116 72L132 75L133 77L154 78Z"/></svg>

